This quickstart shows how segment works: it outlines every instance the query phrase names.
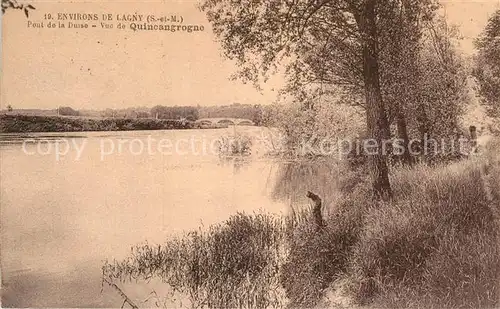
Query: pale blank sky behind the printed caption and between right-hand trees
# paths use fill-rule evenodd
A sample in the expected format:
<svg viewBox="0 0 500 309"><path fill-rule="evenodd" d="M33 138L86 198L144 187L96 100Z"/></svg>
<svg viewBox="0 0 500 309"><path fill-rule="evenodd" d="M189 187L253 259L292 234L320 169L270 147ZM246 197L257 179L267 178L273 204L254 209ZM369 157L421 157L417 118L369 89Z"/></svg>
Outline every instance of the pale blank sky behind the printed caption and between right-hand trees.
<svg viewBox="0 0 500 309"><path fill-rule="evenodd" d="M269 104L282 77L259 92L229 80L237 69L222 53L195 1L32 1L30 19L7 11L2 21L0 108L76 109L155 105ZM460 27L463 48L500 8L500 0L445 1L446 16ZM129 29L49 29L27 27L51 13L181 15L200 33L133 32ZM116 17L115 17L116 18ZM99 25L99 22L97 23ZM115 22L116 26L116 22Z"/></svg>

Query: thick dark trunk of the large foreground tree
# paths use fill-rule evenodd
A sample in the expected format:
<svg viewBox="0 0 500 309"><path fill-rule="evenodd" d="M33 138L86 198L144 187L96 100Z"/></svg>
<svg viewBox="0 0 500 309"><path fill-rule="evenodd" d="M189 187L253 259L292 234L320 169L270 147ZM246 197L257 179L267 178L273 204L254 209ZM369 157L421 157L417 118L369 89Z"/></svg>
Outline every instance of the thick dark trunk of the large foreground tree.
<svg viewBox="0 0 500 309"><path fill-rule="evenodd" d="M363 10L356 19L362 35L368 137L378 144L378 149L371 149L368 154L373 190L376 198L389 199L392 190L383 145L389 140L390 131L380 90L375 4L376 0L365 0Z"/></svg>

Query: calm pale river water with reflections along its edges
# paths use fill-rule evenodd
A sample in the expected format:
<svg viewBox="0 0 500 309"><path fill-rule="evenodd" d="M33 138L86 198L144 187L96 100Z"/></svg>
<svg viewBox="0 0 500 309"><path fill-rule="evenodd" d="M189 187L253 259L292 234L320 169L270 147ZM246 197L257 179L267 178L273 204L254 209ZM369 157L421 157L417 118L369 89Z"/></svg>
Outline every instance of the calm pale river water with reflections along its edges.
<svg viewBox="0 0 500 309"><path fill-rule="evenodd" d="M231 129L229 129L231 130ZM249 128L248 134L258 133ZM214 154L103 158L103 138L213 140L228 130L3 134L0 137L2 305L116 307L101 265L130 247L221 222L238 211L287 213L311 190L328 199L334 166ZM36 153L26 138L86 140L81 156Z"/></svg>

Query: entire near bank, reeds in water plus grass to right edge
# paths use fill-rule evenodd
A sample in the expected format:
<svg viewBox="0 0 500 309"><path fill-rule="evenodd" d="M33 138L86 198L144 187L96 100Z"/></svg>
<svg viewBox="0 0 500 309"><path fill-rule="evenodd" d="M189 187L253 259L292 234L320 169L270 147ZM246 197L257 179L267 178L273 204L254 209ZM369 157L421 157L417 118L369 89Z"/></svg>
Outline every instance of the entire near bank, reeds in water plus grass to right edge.
<svg viewBox="0 0 500 309"><path fill-rule="evenodd" d="M340 295L351 307L498 307L497 147L451 165L395 170L388 203L372 202L363 176L344 177L321 229L304 214L239 214L139 247L107 263L104 276L160 277L195 306L331 307Z"/></svg>

